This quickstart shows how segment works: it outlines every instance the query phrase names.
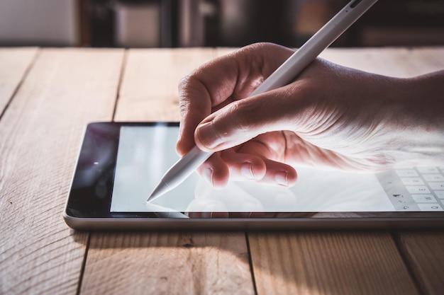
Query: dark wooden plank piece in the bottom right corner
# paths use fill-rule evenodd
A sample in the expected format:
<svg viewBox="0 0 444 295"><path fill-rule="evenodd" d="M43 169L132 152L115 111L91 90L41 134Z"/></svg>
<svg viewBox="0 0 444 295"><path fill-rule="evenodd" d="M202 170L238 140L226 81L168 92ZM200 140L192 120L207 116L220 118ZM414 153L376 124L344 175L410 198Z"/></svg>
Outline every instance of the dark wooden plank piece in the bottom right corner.
<svg viewBox="0 0 444 295"><path fill-rule="evenodd" d="M444 231L401 232L399 244L424 294L444 290Z"/></svg>

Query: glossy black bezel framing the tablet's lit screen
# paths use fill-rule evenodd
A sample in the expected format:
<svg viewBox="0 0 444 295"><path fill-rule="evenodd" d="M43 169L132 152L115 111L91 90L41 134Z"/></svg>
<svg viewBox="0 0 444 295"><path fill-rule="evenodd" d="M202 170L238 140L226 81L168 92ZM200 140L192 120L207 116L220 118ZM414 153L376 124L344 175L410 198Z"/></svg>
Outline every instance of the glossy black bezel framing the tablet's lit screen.
<svg viewBox="0 0 444 295"><path fill-rule="evenodd" d="M85 219L89 222L104 221L104 220L159 220L165 219L165 212L110 212L111 196L113 190L113 180L116 170L116 158L118 150L118 141L120 129L123 126L179 126L178 122L93 122L87 125L84 133L84 139L77 158L77 165L74 170L74 177L72 179L72 186L67 199L65 208L66 219ZM94 158L97 153L91 153L89 146L93 149L100 149L101 146L106 146L107 161L103 163L104 159L101 157ZM91 154L93 155L91 157ZM103 153L98 155L103 156ZM87 187L79 187L82 182L82 170L84 168L96 167L94 171L95 181L92 185ZM105 186L104 186L105 184ZM101 185L100 194L96 193L97 185ZM185 214L185 212L182 212ZM218 219L220 215L215 214L200 214L203 212L194 212L190 219ZM196 217L199 216L199 217ZM215 217L215 218L212 218ZM174 219L169 217L168 219ZM346 220L350 219L368 219L368 220L444 220L444 212L232 212L225 214L223 219L250 221L263 221L264 219L281 220L281 221L297 221L302 220ZM182 221L183 222L183 221ZM438 225L438 224L436 224Z"/></svg>

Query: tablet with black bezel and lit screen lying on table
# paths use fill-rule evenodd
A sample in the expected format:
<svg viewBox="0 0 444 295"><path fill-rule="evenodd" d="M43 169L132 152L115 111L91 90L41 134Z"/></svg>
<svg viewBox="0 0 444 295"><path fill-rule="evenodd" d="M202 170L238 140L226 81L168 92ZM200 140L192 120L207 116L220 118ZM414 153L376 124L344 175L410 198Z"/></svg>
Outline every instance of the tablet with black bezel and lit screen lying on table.
<svg viewBox="0 0 444 295"><path fill-rule="evenodd" d="M177 122L87 126L64 212L74 229L274 230L442 227L444 165L344 173L296 167L290 188L231 182L215 189L194 173L147 203L178 160Z"/></svg>

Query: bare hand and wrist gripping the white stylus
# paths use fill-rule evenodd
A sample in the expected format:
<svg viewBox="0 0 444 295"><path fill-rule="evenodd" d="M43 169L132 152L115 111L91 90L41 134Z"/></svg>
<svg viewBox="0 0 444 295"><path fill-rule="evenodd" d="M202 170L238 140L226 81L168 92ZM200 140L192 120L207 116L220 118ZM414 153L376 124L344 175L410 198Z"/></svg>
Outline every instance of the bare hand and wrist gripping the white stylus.
<svg viewBox="0 0 444 295"><path fill-rule="evenodd" d="M289 85L247 98L294 50L243 47L179 84L177 152L213 151L198 170L294 185L297 166L359 172L444 163L444 71L409 79L316 59Z"/></svg>

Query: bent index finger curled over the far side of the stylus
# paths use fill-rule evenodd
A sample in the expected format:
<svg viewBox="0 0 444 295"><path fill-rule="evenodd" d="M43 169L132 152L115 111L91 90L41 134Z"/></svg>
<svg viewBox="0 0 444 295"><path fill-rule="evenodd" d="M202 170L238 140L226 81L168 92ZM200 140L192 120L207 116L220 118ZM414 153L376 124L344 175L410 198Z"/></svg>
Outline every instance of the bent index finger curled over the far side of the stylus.
<svg viewBox="0 0 444 295"><path fill-rule="evenodd" d="M250 45L213 59L185 76L179 83L177 152L182 156L192 149L194 130L202 120L233 100L247 97L291 54L292 50L279 45Z"/></svg>

